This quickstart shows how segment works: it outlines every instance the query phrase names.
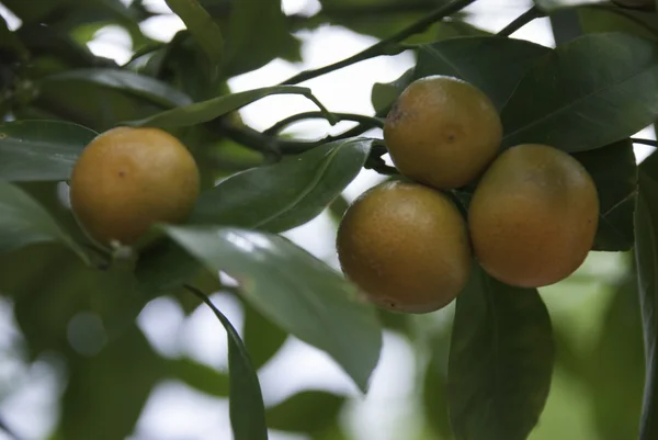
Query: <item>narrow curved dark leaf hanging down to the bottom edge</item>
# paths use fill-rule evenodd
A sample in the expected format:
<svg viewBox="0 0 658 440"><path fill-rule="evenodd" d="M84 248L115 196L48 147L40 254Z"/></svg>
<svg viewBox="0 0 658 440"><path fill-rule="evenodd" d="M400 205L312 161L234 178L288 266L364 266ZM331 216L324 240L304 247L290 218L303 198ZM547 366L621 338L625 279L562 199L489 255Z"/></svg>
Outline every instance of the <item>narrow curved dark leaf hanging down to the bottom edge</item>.
<svg viewBox="0 0 658 440"><path fill-rule="evenodd" d="M194 291L194 289L192 289ZM265 408L256 371L240 336L211 300L196 292L213 309L228 339L229 413L235 440L268 440Z"/></svg>

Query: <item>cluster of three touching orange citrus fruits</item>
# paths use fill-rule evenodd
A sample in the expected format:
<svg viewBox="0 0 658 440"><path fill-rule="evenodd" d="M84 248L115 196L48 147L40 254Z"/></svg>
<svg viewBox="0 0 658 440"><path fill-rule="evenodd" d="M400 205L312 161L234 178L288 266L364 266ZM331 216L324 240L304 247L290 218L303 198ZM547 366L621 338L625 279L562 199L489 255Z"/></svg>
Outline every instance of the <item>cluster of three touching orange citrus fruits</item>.
<svg viewBox="0 0 658 440"><path fill-rule="evenodd" d="M473 256L491 277L540 287L571 274L594 240L599 198L572 156L546 145L501 151L487 95L431 76L394 103L384 140L402 180L359 196L338 229L341 268L379 306L428 313L466 285ZM465 218L449 191L475 183Z"/></svg>

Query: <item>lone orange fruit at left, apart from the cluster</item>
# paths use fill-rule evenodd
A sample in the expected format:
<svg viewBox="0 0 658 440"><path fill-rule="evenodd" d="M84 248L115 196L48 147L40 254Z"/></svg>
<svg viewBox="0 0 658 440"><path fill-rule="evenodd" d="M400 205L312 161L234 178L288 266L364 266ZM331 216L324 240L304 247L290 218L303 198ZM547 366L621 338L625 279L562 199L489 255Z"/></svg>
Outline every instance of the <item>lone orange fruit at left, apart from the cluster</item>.
<svg viewBox="0 0 658 440"><path fill-rule="evenodd" d="M91 238L133 245L154 223L188 217L200 176L192 155L170 134L118 127L82 150L69 185L72 211Z"/></svg>

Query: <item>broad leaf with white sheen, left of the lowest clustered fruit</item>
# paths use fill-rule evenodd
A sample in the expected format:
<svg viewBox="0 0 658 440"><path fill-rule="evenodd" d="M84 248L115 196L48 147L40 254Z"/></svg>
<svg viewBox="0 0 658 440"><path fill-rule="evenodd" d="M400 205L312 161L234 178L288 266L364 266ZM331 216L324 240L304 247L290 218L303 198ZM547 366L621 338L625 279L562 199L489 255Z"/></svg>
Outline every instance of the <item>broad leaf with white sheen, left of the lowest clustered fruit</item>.
<svg viewBox="0 0 658 440"><path fill-rule="evenodd" d="M377 363L382 331L356 289L283 237L237 228L163 226L209 270L299 339L327 351L361 387Z"/></svg>

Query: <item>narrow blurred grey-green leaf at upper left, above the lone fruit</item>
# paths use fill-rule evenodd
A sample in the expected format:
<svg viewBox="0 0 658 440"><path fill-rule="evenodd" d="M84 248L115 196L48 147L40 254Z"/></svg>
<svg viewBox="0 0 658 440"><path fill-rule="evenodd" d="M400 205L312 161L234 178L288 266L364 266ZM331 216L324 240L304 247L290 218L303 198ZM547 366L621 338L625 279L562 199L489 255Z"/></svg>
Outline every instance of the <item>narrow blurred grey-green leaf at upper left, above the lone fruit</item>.
<svg viewBox="0 0 658 440"><path fill-rule="evenodd" d="M166 108L189 105L192 99L185 93L155 78L129 70L88 68L67 70L45 77L42 84L57 87L58 81L86 81L102 87L121 90L138 98L145 98Z"/></svg>

